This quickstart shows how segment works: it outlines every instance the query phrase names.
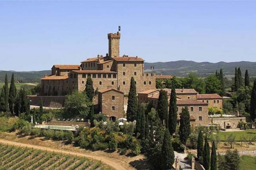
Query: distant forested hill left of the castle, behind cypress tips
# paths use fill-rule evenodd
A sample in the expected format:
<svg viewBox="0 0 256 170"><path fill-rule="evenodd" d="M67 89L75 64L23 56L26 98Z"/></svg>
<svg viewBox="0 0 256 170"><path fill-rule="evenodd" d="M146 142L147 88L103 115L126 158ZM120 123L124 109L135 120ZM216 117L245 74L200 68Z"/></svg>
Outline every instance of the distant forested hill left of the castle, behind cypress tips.
<svg viewBox="0 0 256 170"><path fill-rule="evenodd" d="M7 73L9 82L12 77L12 74L14 73L16 82L29 83L29 82L41 82L40 79L44 77L45 74L50 75L51 70L29 71L29 72L0 71L0 82L4 82L6 73Z"/></svg>

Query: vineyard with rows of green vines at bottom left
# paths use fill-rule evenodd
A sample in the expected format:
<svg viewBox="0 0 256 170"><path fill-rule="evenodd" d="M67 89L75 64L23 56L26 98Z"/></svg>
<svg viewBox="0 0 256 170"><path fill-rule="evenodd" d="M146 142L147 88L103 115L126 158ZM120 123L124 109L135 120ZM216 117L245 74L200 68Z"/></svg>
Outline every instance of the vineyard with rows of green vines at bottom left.
<svg viewBox="0 0 256 170"><path fill-rule="evenodd" d="M109 170L86 157L0 144L0 170Z"/></svg>

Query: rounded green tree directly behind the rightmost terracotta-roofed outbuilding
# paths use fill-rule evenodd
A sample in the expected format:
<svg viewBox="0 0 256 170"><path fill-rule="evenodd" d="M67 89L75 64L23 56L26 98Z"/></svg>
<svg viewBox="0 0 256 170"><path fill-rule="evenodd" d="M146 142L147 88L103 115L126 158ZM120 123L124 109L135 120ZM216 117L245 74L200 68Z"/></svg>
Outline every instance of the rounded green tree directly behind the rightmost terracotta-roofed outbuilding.
<svg viewBox="0 0 256 170"><path fill-rule="evenodd" d="M221 93L221 82L215 75L206 77L205 79L205 92L207 94Z"/></svg>

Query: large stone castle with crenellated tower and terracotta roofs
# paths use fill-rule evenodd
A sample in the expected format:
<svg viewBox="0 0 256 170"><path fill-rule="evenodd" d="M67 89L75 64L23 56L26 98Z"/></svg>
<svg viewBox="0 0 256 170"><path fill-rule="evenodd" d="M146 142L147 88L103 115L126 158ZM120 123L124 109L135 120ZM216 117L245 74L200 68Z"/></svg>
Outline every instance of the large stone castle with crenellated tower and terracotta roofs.
<svg viewBox="0 0 256 170"><path fill-rule="evenodd" d="M138 56L119 55L121 33L109 33L109 53L88 58L80 65L54 65L51 75L42 78L42 96L62 96L70 91L84 91L86 79L93 79L94 90L112 88L128 94L131 77L137 92L156 88L156 79L170 76L144 74L144 60Z"/></svg>

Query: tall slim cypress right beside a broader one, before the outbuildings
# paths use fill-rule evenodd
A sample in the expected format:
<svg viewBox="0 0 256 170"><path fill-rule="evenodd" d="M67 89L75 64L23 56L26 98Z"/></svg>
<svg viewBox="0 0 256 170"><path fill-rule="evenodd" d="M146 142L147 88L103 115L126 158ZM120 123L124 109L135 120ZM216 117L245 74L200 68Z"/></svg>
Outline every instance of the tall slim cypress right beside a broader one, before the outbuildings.
<svg viewBox="0 0 256 170"><path fill-rule="evenodd" d="M173 87L171 91L168 124L168 128L172 136L173 133L175 133L177 126L177 99L175 87Z"/></svg>

